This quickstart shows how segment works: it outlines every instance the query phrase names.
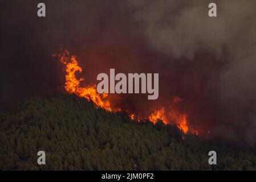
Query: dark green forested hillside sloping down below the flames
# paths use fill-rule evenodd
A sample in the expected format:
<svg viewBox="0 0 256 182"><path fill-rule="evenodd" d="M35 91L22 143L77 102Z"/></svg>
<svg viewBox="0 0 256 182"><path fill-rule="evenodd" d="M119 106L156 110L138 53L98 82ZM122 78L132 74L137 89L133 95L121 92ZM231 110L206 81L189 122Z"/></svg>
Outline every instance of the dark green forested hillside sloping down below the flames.
<svg viewBox="0 0 256 182"><path fill-rule="evenodd" d="M183 138L182 138L183 137ZM131 121L76 96L34 97L0 111L1 170L256 169L256 150L201 141L161 121ZM37 152L46 152L46 165ZM208 152L217 152L217 165Z"/></svg>

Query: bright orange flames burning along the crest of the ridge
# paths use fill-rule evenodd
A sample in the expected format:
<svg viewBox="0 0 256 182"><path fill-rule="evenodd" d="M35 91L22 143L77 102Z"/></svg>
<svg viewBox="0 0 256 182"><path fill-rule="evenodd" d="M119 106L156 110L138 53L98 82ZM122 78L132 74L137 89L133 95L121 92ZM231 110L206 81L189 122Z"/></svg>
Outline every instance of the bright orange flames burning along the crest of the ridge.
<svg viewBox="0 0 256 182"><path fill-rule="evenodd" d="M54 55L56 57L57 55ZM65 89L70 94L76 94L79 97L86 98L89 101L92 101L96 107L101 107L107 111L118 112L124 111L120 107L114 108L111 106L111 102L108 100L107 93L98 93L96 89L96 84L88 85L82 87L80 83L84 78L76 78L76 72L81 73L82 68L79 67L76 56L71 56L67 50L60 51L59 60L66 65L66 84ZM157 121L162 121L165 125L176 125L184 134L192 133L198 135L198 131L190 128L188 126L188 116L186 113L180 113L176 109L178 102L181 102L181 98L174 97L173 101L169 107L161 107L158 110L153 110L152 114L148 117L140 117L134 113L130 113L128 110L125 110L125 113L129 115L132 120L141 121L143 119L148 119L152 123Z"/></svg>

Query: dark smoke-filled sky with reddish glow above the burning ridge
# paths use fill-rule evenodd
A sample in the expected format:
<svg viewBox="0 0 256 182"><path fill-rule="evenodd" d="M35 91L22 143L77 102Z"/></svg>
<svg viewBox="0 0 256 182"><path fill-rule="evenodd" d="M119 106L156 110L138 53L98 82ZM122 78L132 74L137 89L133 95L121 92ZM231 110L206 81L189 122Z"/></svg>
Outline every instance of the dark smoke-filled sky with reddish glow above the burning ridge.
<svg viewBox="0 0 256 182"><path fill-rule="evenodd" d="M148 114L178 96L189 125L255 144L256 1L44 1L45 18L39 2L1 3L1 108L63 91L64 67L51 55L64 47L85 85L109 68L159 73L158 100L122 95L123 108Z"/></svg>

